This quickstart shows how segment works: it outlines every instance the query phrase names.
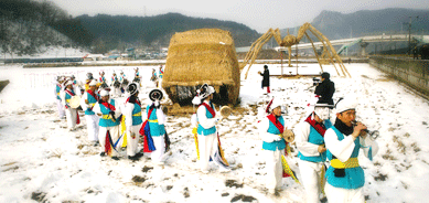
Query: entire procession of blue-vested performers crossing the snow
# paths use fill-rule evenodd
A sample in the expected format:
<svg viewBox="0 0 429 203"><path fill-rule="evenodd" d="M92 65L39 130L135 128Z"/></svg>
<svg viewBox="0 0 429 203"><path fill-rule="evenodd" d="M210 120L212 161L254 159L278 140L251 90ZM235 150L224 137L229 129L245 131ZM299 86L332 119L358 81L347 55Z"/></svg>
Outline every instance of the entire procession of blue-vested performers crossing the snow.
<svg viewBox="0 0 429 203"><path fill-rule="evenodd" d="M138 71L136 76L139 76ZM99 82L105 82L101 77L104 74L100 74ZM88 79L88 88L83 94L81 106L85 110L88 139L99 142L100 156L108 154L118 160L118 146L124 146L126 141L128 159L138 160L142 156L138 147L141 137L143 152L150 152L154 163L163 164L170 140L164 127L165 115L160 104L162 92L153 89L149 94L152 104L146 107L147 118L142 118L139 82L126 86L129 97L125 104L118 104L110 98L108 88L100 87L97 92L99 83L90 77ZM65 107L67 126L73 130L78 124L77 110L68 104L75 94L73 81L61 77L58 84L58 109L61 104ZM61 84L64 85L64 100L58 92ZM199 164L203 173L210 172L210 161L218 165L221 172L230 171L221 147L217 129L221 119L212 103L214 94L214 87L204 84L192 100L197 106L191 124L194 127ZM292 177L298 182L286 160L286 156L290 154L290 145L283 136L288 130L282 117L287 111L285 106L272 98L265 109L266 116L258 124L267 170L266 188L272 194L282 190L285 177ZM301 174L299 182L305 190L307 202L320 202L324 193L329 202L365 202L362 191L365 178L357 157L360 149L363 149L364 154L372 160L378 146L366 133L366 126L355 121L356 107L357 99L352 96L336 105L311 104L304 119L293 129ZM333 122L330 119L331 110L335 113ZM60 111L60 116L63 117L64 114Z"/></svg>

